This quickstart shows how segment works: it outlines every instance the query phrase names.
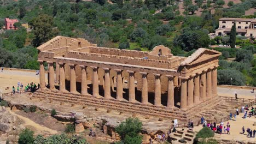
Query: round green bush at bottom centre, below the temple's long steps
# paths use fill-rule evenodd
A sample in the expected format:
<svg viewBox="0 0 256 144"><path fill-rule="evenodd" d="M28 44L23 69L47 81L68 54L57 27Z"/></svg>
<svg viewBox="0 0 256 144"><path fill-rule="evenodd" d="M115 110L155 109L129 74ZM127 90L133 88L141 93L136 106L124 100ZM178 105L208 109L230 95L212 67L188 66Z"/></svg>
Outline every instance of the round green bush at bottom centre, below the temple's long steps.
<svg viewBox="0 0 256 144"><path fill-rule="evenodd" d="M139 135L142 130L142 122L138 118L125 119L125 122L121 122L115 130L121 136L121 141L124 143L142 143L142 136Z"/></svg>

